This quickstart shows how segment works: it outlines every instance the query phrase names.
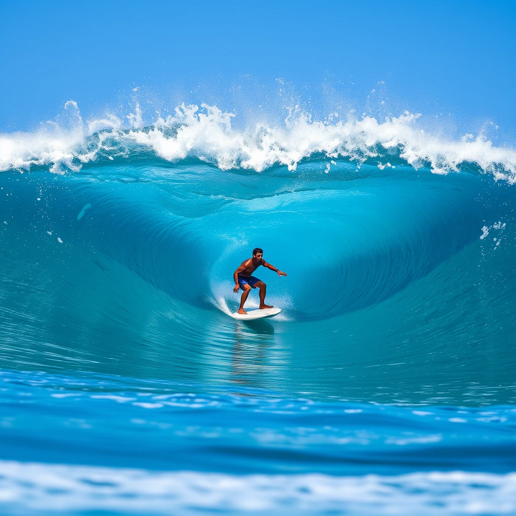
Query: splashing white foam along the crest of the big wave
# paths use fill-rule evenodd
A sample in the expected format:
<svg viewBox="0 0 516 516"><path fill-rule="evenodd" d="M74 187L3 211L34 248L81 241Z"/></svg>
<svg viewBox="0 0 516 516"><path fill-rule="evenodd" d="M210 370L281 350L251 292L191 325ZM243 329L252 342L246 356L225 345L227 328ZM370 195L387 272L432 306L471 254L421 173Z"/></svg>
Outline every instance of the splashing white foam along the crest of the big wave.
<svg viewBox="0 0 516 516"><path fill-rule="evenodd" d="M433 172L448 173L473 163L496 179L516 181L514 149L495 147L482 135L467 134L458 141L434 136L422 130L420 115L408 111L384 121L349 117L335 122L334 118L313 120L296 107L282 125L256 123L237 130L232 126L233 114L207 104L201 108L181 105L173 116L158 116L145 126L137 105L135 112L126 116L126 128L114 115L85 123L72 101L65 108L74 113L67 129L49 122L35 133L0 135L0 170L31 165L48 166L52 172L78 170L101 156L112 159L138 150L153 151L170 161L193 156L223 170L260 172L274 164L295 170L300 160L314 153L326 155L330 163L339 156L359 165L367 158L379 158L380 169L394 169L390 162L384 164L389 157L385 154L393 151L414 168L429 165Z"/></svg>

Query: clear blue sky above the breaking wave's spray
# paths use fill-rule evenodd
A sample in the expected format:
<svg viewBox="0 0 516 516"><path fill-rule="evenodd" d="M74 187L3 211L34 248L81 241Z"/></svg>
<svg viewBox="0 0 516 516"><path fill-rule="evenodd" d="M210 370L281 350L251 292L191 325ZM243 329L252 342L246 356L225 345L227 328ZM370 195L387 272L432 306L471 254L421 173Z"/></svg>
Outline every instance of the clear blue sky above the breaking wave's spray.
<svg viewBox="0 0 516 516"><path fill-rule="evenodd" d="M335 99L362 110L377 89L379 116L515 126L516 2L4 0L0 19L2 131L70 99L86 117L136 95L242 110L273 97L279 77L315 111Z"/></svg>

